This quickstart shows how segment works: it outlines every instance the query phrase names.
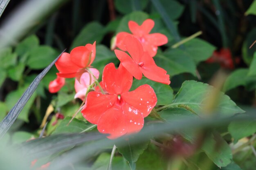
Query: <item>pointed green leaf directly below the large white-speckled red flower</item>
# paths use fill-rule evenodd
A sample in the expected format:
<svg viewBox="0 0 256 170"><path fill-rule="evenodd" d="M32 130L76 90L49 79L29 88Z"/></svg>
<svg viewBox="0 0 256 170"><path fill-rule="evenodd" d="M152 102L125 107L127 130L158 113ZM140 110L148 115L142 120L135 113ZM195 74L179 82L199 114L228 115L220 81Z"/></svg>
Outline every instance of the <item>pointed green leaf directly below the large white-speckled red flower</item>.
<svg viewBox="0 0 256 170"><path fill-rule="evenodd" d="M117 145L117 149L128 161L131 170L135 170L136 162L144 150L148 148L148 144L149 142L131 145L129 140L127 140L124 141L122 146Z"/></svg>

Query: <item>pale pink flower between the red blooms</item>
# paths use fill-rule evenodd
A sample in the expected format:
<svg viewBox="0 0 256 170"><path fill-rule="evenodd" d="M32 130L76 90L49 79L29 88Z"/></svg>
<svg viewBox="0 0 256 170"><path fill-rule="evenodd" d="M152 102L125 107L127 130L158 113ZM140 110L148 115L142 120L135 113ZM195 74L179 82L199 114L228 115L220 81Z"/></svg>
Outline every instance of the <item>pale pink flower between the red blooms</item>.
<svg viewBox="0 0 256 170"><path fill-rule="evenodd" d="M92 74L98 79L99 78L99 71L96 68L90 68ZM75 80L75 90L76 95L74 98L79 98L83 100L85 98L85 94L87 92L87 88L94 83L94 77L89 75L90 73L85 72L81 75L80 82L78 79ZM90 80L91 79L91 80Z"/></svg>

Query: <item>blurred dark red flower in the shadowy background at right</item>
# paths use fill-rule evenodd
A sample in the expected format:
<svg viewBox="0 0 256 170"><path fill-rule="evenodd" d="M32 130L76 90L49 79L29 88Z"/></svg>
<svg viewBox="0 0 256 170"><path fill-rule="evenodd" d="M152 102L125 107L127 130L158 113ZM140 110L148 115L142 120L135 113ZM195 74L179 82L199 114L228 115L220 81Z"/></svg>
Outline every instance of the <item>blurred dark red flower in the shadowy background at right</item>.
<svg viewBox="0 0 256 170"><path fill-rule="evenodd" d="M239 63L239 58L235 59L236 63ZM234 63L232 60L232 54L230 49L220 49L220 51L214 51L213 55L206 61L207 63L218 62L223 68L234 68Z"/></svg>

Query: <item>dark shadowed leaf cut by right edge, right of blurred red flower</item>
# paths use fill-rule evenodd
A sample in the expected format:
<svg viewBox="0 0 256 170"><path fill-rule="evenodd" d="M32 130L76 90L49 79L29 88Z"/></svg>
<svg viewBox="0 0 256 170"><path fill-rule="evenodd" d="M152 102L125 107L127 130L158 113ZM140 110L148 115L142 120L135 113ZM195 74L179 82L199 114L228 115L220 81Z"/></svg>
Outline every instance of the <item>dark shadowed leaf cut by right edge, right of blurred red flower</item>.
<svg viewBox="0 0 256 170"><path fill-rule="evenodd" d="M254 43L256 37L256 28L252 29L243 42L242 46L242 55L244 62L249 66L252 62L254 52L256 51L256 45L252 46L251 49L249 47Z"/></svg>

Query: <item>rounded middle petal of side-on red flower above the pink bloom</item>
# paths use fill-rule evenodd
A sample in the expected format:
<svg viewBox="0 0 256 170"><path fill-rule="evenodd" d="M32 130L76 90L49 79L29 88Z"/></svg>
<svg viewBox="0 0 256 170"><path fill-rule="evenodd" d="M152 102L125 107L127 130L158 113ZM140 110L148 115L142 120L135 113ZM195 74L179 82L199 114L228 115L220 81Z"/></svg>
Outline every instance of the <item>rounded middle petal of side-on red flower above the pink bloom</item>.
<svg viewBox="0 0 256 170"><path fill-rule="evenodd" d="M92 51L85 46L78 46L70 52L71 61L80 68L89 66L89 60L92 59Z"/></svg>

